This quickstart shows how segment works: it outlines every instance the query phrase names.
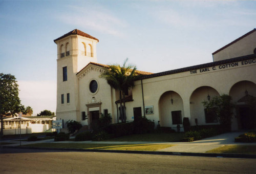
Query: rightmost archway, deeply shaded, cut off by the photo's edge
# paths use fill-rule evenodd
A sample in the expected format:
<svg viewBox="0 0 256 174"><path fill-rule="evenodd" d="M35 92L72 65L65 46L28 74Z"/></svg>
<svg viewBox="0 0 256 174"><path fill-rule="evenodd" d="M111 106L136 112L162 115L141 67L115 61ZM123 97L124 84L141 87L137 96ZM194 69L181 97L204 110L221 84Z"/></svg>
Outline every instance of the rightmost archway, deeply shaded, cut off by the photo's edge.
<svg viewBox="0 0 256 174"><path fill-rule="evenodd" d="M252 129L256 124L256 84L251 81L240 81L234 84L229 95L236 105L234 109L233 126L238 129Z"/></svg>

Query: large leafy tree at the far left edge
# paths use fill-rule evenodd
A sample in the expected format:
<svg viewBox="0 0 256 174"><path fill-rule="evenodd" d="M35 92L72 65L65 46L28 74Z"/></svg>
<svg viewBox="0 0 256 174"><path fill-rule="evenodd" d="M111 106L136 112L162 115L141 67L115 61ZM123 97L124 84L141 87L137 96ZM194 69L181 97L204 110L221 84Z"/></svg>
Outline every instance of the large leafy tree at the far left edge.
<svg viewBox="0 0 256 174"><path fill-rule="evenodd" d="M1 136L3 136L4 117L14 116L19 112L26 113L24 105L20 104L18 91L16 78L11 74L0 73Z"/></svg>

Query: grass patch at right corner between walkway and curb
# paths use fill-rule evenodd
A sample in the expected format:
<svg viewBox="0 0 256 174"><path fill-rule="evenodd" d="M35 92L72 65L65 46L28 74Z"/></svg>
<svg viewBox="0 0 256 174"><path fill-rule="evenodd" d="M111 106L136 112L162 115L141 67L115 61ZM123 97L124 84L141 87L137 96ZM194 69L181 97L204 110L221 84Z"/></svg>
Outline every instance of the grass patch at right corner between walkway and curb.
<svg viewBox="0 0 256 174"><path fill-rule="evenodd" d="M256 145L226 145L206 153L230 153L230 154L256 154Z"/></svg>

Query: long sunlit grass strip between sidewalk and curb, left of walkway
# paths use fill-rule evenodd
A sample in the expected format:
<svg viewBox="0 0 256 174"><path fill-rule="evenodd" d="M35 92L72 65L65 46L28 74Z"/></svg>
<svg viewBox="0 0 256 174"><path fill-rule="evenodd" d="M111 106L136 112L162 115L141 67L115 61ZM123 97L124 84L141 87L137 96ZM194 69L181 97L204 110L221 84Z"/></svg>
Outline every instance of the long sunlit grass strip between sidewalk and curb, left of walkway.
<svg viewBox="0 0 256 174"><path fill-rule="evenodd" d="M104 150L143 150L156 151L172 147L172 144L85 144L85 143L38 143L23 145L23 147L54 147L54 148L82 148Z"/></svg>

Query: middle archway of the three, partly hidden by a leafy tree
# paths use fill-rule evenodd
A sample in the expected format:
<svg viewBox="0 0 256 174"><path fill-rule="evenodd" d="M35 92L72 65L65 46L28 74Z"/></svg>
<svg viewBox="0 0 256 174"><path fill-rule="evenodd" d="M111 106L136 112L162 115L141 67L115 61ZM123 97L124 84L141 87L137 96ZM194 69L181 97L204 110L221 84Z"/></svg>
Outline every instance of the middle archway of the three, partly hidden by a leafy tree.
<svg viewBox="0 0 256 174"><path fill-rule="evenodd" d="M214 121L208 122L205 119L203 101L208 101L219 93L210 86L197 88L190 96L190 125L216 124Z"/></svg>

